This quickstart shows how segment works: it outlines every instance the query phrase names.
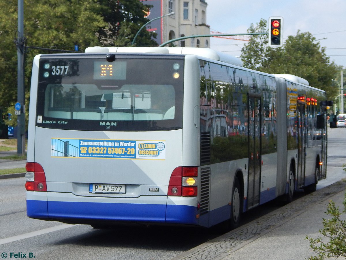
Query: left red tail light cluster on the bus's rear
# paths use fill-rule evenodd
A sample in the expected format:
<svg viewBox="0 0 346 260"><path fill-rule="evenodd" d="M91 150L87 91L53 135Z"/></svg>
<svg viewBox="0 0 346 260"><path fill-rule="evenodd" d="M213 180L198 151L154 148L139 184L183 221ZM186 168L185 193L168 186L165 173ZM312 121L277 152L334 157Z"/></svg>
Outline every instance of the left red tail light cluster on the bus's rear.
<svg viewBox="0 0 346 260"><path fill-rule="evenodd" d="M47 191L46 175L42 166L38 163L27 162L25 168L27 170L25 189L27 191Z"/></svg>

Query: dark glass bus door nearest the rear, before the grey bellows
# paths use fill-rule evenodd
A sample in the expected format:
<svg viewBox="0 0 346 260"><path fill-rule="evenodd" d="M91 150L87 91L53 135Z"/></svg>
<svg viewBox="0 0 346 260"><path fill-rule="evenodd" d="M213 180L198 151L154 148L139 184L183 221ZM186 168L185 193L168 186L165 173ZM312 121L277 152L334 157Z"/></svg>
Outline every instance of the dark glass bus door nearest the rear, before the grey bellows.
<svg viewBox="0 0 346 260"><path fill-rule="evenodd" d="M260 202L261 182L261 95L248 94L248 194L247 208L252 208Z"/></svg>

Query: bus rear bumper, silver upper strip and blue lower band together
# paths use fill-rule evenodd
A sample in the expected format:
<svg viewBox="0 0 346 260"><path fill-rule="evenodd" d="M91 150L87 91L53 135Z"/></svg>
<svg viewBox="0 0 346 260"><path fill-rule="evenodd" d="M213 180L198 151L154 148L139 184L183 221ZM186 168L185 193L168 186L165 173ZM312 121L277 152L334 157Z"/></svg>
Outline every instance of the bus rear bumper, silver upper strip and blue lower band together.
<svg viewBox="0 0 346 260"><path fill-rule="evenodd" d="M71 193L48 192L47 197L48 201L27 199L28 217L76 224L102 220L198 225L196 207L167 205L166 196L92 198L92 202L90 197L76 198Z"/></svg>

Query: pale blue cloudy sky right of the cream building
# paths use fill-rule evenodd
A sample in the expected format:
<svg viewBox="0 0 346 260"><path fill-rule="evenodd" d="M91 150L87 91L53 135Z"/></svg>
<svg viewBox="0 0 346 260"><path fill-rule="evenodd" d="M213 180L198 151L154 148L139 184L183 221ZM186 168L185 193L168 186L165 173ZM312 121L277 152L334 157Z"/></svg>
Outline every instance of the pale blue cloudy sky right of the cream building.
<svg viewBox="0 0 346 260"><path fill-rule="evenodd" d="M284 41L289 35L310 32L330 61L346 68L346 0L207 0L210 31L247 33L261 18L283 17ZM240 56L246 41L211 37L210 48Z"/></svg>

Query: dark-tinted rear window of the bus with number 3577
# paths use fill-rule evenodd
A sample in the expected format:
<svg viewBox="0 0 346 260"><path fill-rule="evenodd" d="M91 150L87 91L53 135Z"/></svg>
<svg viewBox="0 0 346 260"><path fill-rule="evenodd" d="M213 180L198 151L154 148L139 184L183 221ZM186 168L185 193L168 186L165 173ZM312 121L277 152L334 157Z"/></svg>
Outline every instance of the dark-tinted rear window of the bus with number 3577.
<svg viewBox="0 0 346 260"><path fill-rule="evenodd" d="M183 60L117 62L121 66L95 59L41 60L36 125L92 131L181 128ZM56 75L57 67L65 71Z"/></svg>

